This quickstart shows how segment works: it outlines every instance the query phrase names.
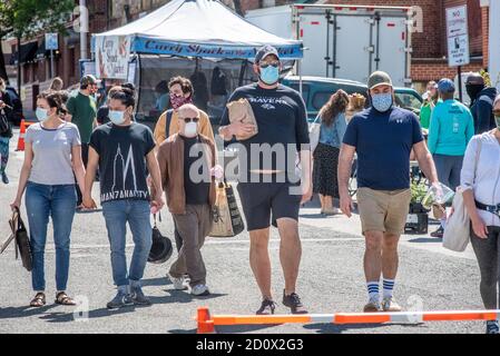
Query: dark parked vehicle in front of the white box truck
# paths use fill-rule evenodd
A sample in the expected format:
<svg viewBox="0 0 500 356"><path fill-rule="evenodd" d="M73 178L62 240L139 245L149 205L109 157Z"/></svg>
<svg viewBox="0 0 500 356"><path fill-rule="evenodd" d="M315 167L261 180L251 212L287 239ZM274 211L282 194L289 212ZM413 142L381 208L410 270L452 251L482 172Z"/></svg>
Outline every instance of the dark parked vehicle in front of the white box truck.
<svg viewBox="0 0 500 356"><path fill-rule="evenodd" d="M300 77L297 76L285 77L283 83L300 91ZM344 90L349 95L357 92L367 97L366 85L359 81L321 77L302 78L302 97L307 108L307 118L310 121L316 118L321 108L326 103L332 93L339 89ZM394 92L395 103L399 107L411 110L416 115L420 113L420 107L423 100L414 89L395 87ZM366 105L369 103L369 100L366 100Z"/></svg>

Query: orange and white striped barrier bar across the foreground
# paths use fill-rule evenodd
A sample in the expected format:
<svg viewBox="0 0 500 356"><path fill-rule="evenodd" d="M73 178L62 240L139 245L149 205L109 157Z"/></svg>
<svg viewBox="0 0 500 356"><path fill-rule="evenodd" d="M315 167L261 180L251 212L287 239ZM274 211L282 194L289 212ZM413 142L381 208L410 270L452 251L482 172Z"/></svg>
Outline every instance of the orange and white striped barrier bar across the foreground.
<svg viewBox="0 0 500 356"><path fill-rule="evenodd" d="M210 315L208 308L198 308L198 334L214 334L216 325L278 325L278 324L384 324L423 322L494 320L500 310L447 310L401 313L336 313L307 315Z"/></svg>

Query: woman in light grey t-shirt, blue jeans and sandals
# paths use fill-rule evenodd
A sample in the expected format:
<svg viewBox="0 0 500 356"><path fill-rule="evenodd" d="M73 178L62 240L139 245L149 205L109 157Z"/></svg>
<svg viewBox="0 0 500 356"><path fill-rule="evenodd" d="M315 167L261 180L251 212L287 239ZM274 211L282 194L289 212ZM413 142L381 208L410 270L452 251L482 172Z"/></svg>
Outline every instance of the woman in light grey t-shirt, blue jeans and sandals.
<svg viewBox="0 0 500 356"><path fill-rule="evenodd" d="M78 128L61 119L60 93L43 92L37 100L37 118L26 132L24 162L19 177L18 194L11 204L19 209L26 189L36 291L30 306L46 305L45 246L49 216L56 245L56 304L75 305L66 294L69 275L69 244L75 206L75 177L84 190L85 168Z"/></svg>

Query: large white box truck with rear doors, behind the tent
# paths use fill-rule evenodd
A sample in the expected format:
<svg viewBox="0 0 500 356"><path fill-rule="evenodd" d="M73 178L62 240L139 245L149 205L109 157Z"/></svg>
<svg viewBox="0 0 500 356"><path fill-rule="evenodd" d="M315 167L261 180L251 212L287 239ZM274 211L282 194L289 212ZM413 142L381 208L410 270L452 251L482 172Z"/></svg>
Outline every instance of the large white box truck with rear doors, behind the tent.
<svg viewBox="0 0 500 356"><path fill-rule="evenodd" d="M412 8L292 4L248 11L246 19L304 43L303 76L366 82L374 70L411 85Z"/></svg>

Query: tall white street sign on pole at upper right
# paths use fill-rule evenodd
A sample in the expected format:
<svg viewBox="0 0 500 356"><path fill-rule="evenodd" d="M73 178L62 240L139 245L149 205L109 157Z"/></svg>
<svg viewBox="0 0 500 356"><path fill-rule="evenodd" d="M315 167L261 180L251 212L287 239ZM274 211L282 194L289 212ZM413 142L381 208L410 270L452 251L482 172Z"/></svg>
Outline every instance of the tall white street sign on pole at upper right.
<svg viewBox="0 0 500 356"><path fill-rule="evenodd" d="M448 65L465 66L470 62L467 6L447 9Z"/></svg>

